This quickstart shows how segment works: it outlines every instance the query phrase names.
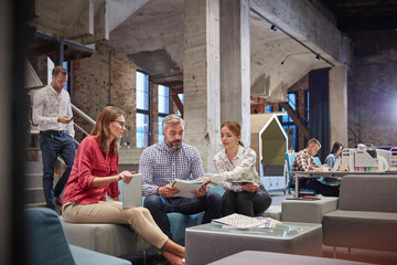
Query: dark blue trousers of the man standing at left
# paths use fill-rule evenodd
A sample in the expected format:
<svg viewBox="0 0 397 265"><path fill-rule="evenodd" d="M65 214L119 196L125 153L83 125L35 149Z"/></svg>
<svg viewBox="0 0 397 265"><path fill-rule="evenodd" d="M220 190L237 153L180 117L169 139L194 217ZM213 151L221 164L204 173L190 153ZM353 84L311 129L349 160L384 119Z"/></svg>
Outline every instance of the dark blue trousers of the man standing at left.
<svg viewBox="0 0 397 265"><path fill-rule="evenodd" d="M43 158L43 190L46 206L55 210L54 197L60 197L72 170L75 157L73 138L66 131L40 131L40 149ZM57 156L66 163L66 170L53 189Z"/></svg>

